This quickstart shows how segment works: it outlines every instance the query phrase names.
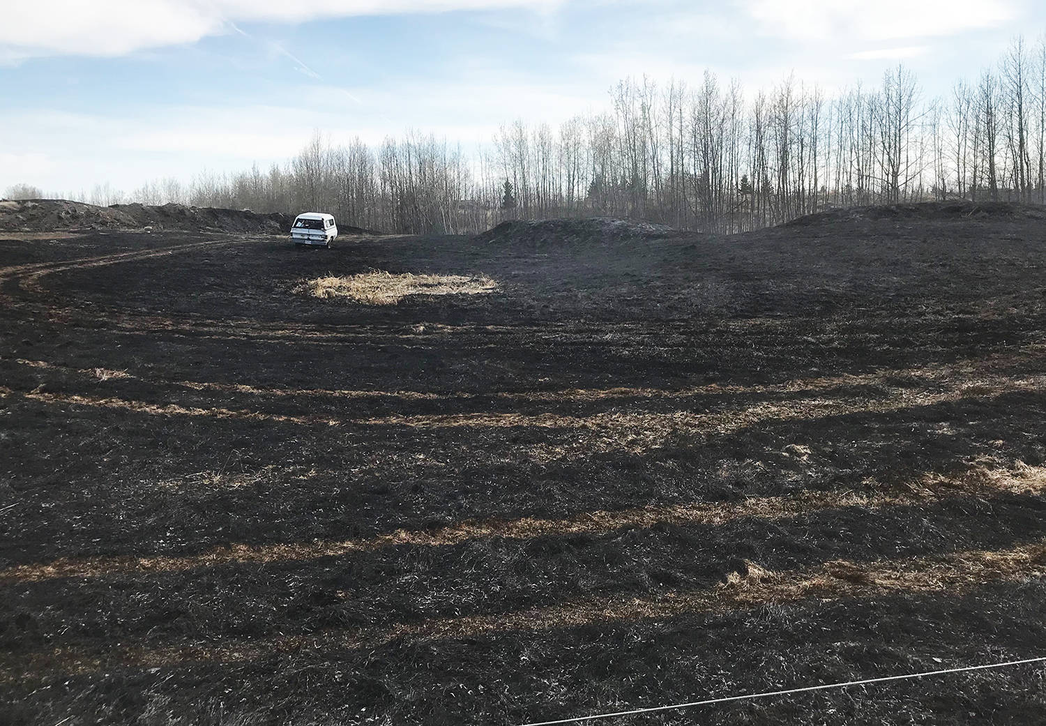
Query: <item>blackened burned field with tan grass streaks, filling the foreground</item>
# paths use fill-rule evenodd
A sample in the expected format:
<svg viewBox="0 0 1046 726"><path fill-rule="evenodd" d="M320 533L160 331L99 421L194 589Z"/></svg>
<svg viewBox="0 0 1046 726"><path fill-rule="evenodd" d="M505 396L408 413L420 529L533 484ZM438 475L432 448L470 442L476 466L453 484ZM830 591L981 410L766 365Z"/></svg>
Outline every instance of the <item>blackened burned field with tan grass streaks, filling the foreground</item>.
<svg viewBox="0 0 1046 726"><path fill-rule="evenodd" d="M1046 654L1038 212L584 229L0 233L0 722L519 724ZM491 283L301 292L376 272ZM612 723L1033 724L1043 673Z"/></svg>

